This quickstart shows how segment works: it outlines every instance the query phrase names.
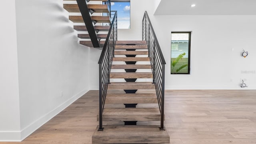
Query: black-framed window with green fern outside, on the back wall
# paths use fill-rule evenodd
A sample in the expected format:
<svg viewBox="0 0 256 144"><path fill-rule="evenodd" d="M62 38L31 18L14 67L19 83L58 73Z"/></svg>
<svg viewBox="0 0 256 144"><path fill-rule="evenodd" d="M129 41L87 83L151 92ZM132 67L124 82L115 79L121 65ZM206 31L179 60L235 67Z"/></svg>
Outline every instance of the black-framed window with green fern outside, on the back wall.
<svg viewBox="0 0 256 144"><path fill-rule="evenodd" d="M171 74L190 74L191 32L171 34Z"/></svg>

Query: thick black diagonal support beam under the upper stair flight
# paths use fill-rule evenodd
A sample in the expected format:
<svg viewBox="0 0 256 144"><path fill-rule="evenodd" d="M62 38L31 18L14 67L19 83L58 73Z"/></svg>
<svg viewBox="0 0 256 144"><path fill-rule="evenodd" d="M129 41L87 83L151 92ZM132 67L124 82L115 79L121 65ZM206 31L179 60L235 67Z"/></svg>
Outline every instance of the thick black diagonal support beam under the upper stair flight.
<svg viewBox="0 0 256 144"><path fill-rule="evenodd" d="M98 41L97 35L94 30L94 26L92 24L92 19L90 16L90 10L87 7L85 0L76 0L79 10L82 14L82 17L84 19L85 26L87 28L88 34L90 36L90 39L92 41L92 45L94 48L100 48L100 43Z"/></svg>

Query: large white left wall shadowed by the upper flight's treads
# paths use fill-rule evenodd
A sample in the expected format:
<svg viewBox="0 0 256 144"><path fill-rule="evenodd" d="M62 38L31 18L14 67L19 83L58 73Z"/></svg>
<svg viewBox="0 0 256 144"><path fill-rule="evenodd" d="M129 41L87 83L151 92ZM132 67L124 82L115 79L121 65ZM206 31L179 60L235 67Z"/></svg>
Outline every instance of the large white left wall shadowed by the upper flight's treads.
<svg viewBox="0 0 256 144"><path fill-rule="evenodd" d="M16 0L21 137L89 89L88 48L62 0Z"/></svg>

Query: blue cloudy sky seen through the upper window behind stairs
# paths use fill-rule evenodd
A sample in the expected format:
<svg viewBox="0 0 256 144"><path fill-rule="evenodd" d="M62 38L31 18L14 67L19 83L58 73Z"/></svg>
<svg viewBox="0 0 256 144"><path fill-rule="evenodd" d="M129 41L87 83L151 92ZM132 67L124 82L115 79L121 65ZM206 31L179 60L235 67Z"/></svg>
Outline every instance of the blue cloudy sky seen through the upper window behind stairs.
<svg viewBox="0 0 256 144"><path fill-rule="evenodd" d="M130 2L111 2L111 10L117 11L117 28L130 28Z"/></svg>

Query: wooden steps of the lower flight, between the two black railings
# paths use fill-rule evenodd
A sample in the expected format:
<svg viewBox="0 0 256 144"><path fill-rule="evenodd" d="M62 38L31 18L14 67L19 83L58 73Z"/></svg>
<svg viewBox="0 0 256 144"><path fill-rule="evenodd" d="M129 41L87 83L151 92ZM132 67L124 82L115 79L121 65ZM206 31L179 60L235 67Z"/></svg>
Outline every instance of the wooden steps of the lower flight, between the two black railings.
<svg viewBox="0 0 256 144"><path fill-rule="evenodd" d="M92 144L170 143L167 131L155 123L160 122L161 114L148 54L146 41L116 41L102 113L104 129L96 128ZM118 82L120 79L126 82ZM138 79L151 82L136 82Z"/></svg>

